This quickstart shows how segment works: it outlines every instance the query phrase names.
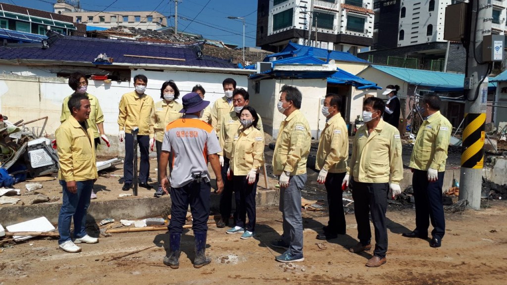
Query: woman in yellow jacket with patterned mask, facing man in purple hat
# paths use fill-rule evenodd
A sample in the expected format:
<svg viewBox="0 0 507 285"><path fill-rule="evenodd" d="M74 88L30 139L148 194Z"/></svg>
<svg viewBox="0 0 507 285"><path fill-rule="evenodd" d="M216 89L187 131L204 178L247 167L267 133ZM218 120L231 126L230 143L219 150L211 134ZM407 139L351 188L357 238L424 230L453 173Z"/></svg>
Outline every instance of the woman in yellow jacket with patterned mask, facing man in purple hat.
<svg viewBox="0 0 507 285"><path fill-rule="evenodd" d="M232 179L236 198L236 226L228 234L243 233L242 239L255 233L257 182L264 164L264 134L257 129L259 116L255 109L245 106L240 114L241 126L234 136L227 178ZM246 216L248 215L248 224Z"/></svg>

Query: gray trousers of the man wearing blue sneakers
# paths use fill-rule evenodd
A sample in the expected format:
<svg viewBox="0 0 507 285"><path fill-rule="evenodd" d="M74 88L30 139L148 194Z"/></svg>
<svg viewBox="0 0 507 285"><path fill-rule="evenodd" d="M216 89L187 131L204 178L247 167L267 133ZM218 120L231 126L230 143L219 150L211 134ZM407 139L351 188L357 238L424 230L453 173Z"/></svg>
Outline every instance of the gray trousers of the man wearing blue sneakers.
<svg viewBox="0 0 507 285"><path fill-rule="evenodd" d="M289 244L293 255L303 254L303 218L301 217L301 190L305 187L306 173L291 176L288 187L280 187L280 211L283 217L282 240Z"/></svg>

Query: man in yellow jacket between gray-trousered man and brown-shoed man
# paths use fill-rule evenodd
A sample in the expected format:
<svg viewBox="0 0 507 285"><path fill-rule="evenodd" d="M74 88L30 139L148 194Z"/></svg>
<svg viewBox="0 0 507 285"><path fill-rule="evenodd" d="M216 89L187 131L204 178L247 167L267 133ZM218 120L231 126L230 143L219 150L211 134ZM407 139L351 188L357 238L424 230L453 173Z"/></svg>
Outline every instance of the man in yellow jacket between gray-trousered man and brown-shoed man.
<svg viewBox="0 0 507 285"><path fill-rule="evenodd" d="M330 93L325 96L322 115L326 117L326 123L320 133L315 161L315 168L320 170L317 182L324 184L328 192L328 226L317 235L317 239L322 240L333 239L346 232L341 185L347 172L348 133L340 114L341 108L342 98L339 95Z"/></svg>

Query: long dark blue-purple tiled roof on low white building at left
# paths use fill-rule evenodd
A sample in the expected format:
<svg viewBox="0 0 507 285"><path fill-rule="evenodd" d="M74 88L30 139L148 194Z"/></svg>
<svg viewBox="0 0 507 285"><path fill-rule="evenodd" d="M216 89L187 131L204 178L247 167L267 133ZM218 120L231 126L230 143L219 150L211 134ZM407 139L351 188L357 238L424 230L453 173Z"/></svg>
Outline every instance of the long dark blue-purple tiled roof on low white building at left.
<svg viewBox="0 0 507 285"><path fill-rule="evenodd" d="M105 53L108 57L113 57L114 63L238 68L236 64L218 58L204 56L202 59L198 59L191 47L178 47L167 44L65 36L50 44L48 49L38 47L0 47L0 59L57 60L91 63L100 53ZM127 57L124 55L185 60Z"/></svg>

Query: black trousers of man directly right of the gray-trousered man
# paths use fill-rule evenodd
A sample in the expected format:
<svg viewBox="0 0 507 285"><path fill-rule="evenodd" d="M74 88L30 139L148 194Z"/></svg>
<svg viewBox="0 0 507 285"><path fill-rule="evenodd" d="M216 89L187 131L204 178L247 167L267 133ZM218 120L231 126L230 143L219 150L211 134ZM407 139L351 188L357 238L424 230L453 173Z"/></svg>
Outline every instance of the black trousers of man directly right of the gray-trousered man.
<svg viewBox="0 0 507 285"><path fill-rule="evenodd" d="M345 234L345 212L343 211L342 182L345 177L343 173L328 173L325 177L325 191L328 192L329 222L328 233Z"/></svg>

